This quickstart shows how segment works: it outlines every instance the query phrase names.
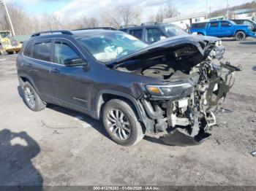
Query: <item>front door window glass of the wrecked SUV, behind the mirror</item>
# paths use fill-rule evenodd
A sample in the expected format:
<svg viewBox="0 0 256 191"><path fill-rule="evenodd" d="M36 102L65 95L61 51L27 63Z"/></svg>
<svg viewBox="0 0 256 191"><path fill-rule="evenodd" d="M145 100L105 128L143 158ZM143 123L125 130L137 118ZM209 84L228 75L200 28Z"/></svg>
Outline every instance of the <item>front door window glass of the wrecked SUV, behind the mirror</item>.
<svg viewBox="0 0 256 191"><path fill-rule="evenodd" d="M63 42L56 42L54 45L54 55L53 55L53 62L63 64L65 61L69 60L76 60L80 59L80 56L75 52L75 50L72 49L72 47L69 47L68 44Z"/></svg>

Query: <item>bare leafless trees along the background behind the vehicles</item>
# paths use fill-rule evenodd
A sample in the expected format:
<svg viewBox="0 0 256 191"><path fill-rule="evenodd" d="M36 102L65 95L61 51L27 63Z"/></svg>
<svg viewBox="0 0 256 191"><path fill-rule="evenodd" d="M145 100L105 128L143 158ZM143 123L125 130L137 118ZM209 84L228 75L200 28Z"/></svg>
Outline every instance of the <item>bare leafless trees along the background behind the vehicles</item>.
<svg viewBox="0 0 256 191"><path fill-rule="evenodd" d="M42 14L31 15L26 12L23 6L15 3L7 4L12 20L12 25L16 35L28 35L37 31L47 30L74 30L78 28L93 28L99 26L120 28L121 26L140 25L143 14L143 7L124 4L113 8L104 9L100 17L82 16L70 20L65 17L61 19L58 15ZM166 17L178 15L178 11L171 0L166 1L163 7L160 7L156 15L148 16L147 22L162 23ZM0 5L0 31L10 30L7 15L3 5Z"/></svg>

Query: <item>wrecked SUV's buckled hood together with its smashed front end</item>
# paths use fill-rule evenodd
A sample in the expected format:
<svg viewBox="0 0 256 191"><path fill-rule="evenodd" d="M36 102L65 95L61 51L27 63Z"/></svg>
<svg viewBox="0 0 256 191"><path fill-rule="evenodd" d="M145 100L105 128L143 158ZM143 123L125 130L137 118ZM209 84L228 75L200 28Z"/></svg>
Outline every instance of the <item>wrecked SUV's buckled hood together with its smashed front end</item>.
<svg viewBox="0 0 256 191"><path fill-rule="evenodd" d="M169 44L170 45L170 44ZM113 69L159 79L145 85L139 102L148 118L147 130L163 133L165 144L198 144L216 125L214 112L233 85L230 63L222 63L224 48L204 38L184 39L115 63Z"/></svg>

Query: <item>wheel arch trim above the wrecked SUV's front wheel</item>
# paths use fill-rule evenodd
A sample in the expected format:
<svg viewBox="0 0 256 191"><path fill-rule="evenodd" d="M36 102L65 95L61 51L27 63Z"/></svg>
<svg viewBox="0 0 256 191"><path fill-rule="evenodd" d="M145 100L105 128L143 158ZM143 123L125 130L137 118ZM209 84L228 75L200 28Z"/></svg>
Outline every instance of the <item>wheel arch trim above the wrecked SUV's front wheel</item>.
<svg viewBox="0 0 256 191"><path fill-rule="evenodd" d="M143 109L143 106L140 104L139 101L137 101L135 98L133 98L131 95L127 93L121 93L118 91L114 90L100 90L99 93L97 94L96 102L95 102L95 113L96 113L96 118L99 119L99 113L102 104L104 103L102 95L103 94L110 94L110 95L118 95L123 98L127 98L129 101L132 102L132 104L135 106L136 112L138 113L138 117L140 122L143 122L144 125L146 125L146 113Z"/></svg>

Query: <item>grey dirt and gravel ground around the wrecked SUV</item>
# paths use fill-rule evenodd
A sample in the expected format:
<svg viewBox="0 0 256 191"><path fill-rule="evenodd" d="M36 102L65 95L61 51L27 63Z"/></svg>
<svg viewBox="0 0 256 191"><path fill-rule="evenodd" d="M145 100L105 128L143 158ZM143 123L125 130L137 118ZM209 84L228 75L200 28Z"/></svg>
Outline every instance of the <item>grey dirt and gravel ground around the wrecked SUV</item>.
<svg viewBox="0 0 256 191"><path fill-rule="evenodd" d="M256 185L256 41L225 40L244 71L199 146L143 139L121 147L101 122L59 106L31 112L20 96L15 55L0 57L0 185ZM20 133L22 132L23 133ZM12 133L12 134L10 134Z"/></svg>

